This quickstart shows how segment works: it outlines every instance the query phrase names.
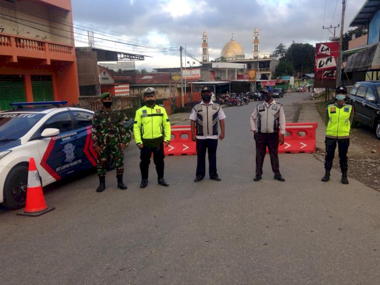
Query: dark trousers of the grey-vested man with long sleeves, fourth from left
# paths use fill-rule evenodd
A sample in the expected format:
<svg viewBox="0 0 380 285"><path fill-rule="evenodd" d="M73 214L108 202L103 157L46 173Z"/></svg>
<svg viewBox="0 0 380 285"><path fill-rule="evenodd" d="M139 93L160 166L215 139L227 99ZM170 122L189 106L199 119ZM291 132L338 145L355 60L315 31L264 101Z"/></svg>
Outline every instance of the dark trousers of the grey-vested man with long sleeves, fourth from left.
<svg viewBox="0 0 380 285"><path fill-rule="evenodd" d="M256 174L262 175L262 164L264 163L267 147L271 157L272 170L276 175L280 175L280 165L278 161L279 135L275 133L259 133L254 136L256 142Z"/></svg>

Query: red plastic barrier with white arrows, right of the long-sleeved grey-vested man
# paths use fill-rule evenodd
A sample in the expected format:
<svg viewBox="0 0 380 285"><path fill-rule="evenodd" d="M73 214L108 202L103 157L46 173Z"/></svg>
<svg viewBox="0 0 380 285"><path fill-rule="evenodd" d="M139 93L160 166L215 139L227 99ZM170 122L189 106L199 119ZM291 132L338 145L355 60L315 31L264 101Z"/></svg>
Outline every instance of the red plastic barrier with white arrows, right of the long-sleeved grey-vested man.
<svg viewBox="0 0 380 285"><path fill-rule="evenodd" d="M284 144L278 147L278 152L315 153L317 127L318 123L287 123Z"/></svg>

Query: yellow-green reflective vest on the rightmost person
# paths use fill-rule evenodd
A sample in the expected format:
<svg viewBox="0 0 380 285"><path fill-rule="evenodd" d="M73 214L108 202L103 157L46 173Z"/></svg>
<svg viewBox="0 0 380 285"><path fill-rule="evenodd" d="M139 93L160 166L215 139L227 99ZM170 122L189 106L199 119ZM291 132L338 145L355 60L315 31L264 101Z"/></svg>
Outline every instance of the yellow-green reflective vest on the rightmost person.
<svg viewBox="0 0 380 285"><path fill-rule="evenodd" d="M349 136L352 105L345 104L343 107L338 108L337 105L330 104L327 105L327 112L329 120L326 127L326 135L336 137Z"/></svg>

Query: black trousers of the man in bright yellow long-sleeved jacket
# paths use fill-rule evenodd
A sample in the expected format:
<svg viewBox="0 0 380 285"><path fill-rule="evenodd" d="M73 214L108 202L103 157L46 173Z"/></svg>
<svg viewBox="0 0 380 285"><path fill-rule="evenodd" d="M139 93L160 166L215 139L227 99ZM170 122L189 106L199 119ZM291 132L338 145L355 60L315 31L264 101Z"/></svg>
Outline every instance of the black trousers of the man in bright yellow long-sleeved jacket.
<svg viewBox="0 0 380 285"><path fill-rule="evenodd" d="M141 179L148 179L150 157L153 153L153 161L156 165L158 179L164 177L164 138L142 139L144 147L140 150Z"/></svg>

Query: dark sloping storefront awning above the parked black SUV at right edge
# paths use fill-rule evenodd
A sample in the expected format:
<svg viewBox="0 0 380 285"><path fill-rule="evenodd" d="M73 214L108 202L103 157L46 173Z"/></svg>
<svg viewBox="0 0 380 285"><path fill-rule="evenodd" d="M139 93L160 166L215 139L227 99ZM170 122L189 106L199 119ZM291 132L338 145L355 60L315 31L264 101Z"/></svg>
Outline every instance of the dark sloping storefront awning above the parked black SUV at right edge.
<svg viewBox="0 0 380 285"><path fill-rule="evenodd" d="M380 69L380 43L373 44L347 59L345 72L362 72Z"/></svg>

